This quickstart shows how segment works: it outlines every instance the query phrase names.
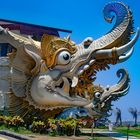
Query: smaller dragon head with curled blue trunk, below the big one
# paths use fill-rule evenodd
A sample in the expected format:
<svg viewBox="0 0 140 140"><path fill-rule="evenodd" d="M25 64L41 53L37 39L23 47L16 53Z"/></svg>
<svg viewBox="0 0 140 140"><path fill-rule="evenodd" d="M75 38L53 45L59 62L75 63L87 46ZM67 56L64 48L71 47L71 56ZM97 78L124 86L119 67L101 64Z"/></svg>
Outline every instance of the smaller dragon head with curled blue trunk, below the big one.
<svg viewBox="0 0 140 140"><path fill-rule="evenodd" d="M121 78L116 85L107 87L95 86L93 102L86 107L91 113L93 112L93 116L102 117L108 115L112 101L116 101L128 93L130 79L127 71L119 69L117 76Z"/></svg>

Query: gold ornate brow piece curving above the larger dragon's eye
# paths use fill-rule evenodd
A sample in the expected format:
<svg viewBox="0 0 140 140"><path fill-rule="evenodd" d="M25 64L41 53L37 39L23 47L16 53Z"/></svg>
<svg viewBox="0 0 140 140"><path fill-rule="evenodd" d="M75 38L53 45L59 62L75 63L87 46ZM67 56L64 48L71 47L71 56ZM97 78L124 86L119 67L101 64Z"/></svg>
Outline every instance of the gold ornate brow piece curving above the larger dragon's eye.
<svg viewBox="0 0 140 140"><path fill-rule="evenodd" d="M57 55L63 50L68 51L70 54L76 52L76 45L70 40L70 37L62 39L52 35L43 35L41 40L42 58L48 68L56 65Z"/></svg>

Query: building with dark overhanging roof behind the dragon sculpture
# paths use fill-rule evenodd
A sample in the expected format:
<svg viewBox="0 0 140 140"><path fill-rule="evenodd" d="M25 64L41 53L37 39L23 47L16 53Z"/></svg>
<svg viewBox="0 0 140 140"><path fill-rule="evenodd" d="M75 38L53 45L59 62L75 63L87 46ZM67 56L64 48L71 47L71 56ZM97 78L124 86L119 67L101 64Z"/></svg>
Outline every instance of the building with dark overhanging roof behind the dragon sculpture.
<svg viewBox="0 0 140 140"><path fill-rule="evenodd" d="M0 19L0 26L8 28L12 32L23 36L31 36L35 40L41 40L43 34L59 36L59 32L71 33L72 31L58 29L23 22ZM10 67L7 53L12 51L12 46L7 42L0 42L0 110L8 106L7 94L10 87Z"/></svg>

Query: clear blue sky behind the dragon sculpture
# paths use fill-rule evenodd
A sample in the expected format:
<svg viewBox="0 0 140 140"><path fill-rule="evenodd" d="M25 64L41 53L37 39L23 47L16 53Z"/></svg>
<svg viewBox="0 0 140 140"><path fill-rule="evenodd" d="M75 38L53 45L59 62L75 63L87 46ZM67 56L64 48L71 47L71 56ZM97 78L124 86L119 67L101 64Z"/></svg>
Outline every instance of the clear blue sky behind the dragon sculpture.
<svg viewBox="0 0 140 140"><path fill-rule="evenodd" d="M71 39L82 42L87 36L94 39L108 32L112 24L106 23L102 10L111 0L3 0L1 1L0 18L21 22L46 25L72 30ZM113 1L113 0L112 0ZM130 6L134 15L134 26L140 27L140 1L122 0ZM68 34L61 33L61 36ZM123 111L123 119L130 120L129 107L140 110L140 39L135 45L133 56L122 64L111 66L109 71L100 72L96 83L115 84L118 79L117 69L126 68L131 78L129 94L114 103ZM140 118L140 117L139 117Z"/></svg>

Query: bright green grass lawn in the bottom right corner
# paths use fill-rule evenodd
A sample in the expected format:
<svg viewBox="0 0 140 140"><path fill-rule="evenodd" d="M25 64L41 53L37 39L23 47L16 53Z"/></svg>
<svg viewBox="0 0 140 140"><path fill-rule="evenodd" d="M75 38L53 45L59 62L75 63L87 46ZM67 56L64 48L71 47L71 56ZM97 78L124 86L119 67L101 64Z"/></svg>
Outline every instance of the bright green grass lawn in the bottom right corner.
<svg viewBox="0 0 140 140"><path fill-rule="evenodd" d="M127 134L127 127L117 127L115 128L115 131ZM140 127L130 127L128 134L140 138Z"/></svg>

